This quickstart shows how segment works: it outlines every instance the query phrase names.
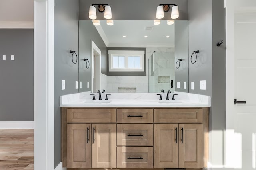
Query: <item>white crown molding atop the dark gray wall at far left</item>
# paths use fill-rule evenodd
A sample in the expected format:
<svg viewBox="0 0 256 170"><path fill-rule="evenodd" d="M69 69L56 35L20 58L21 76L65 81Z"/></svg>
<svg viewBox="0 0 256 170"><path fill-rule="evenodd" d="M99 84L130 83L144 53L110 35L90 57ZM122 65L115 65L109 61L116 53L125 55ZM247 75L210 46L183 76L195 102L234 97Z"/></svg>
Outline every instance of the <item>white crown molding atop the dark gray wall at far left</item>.
<svg viewBox="0 0 256 170"><path fill-rule="evenodd" d="M20 22L20 21L0 21L0 29L11 29L11 28L22 28L22 29L26 29L26 28L30 28L33 29L34 28L34 22Z"/></svg>

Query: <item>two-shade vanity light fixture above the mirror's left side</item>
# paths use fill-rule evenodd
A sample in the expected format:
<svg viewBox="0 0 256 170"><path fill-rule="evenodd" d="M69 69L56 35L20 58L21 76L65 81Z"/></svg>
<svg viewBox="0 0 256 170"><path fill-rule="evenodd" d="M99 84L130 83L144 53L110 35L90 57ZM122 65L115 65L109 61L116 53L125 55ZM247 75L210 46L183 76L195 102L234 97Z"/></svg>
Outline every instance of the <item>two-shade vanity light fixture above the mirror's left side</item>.
<svg viewBox="0 0 256 170"><path fill-rule="evenodd" d="M108 4L92 4L89 8L89 18L95 20L97 18L96 8L94 5L98 5L98 11L104 12L104 18L107 20L112 18L111 7Z"/></svg>

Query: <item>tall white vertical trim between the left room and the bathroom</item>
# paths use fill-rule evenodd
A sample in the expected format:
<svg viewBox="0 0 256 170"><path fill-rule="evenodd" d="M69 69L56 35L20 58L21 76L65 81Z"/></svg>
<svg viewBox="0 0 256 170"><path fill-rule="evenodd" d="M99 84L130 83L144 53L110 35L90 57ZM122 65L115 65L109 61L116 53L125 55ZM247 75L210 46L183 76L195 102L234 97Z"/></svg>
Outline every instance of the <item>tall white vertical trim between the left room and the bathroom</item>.
<svg viewBox="0 0 256 170"><path fill-rule="evenodd" d="M34 0L34 169L54 170L54 0Z"/></svg>

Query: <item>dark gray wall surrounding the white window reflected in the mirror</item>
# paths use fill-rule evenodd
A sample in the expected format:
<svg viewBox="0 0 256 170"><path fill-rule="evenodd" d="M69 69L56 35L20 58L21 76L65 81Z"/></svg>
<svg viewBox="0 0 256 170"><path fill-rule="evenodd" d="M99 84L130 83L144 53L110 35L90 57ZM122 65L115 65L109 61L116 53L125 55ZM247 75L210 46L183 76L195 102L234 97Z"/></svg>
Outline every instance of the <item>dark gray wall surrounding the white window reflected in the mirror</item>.
<svg viewBox="0 0 256 170"><path fill-rule="evenodd" d="M108 50L144 50L144 71L141 72L109 72L109 65L108 65L108 59L109 57L107 57L107 75L108 76L146 76L147 75L147 60L146 60L146 55L147 55L147 51L146 48L115 48L115 47L109 47ZM107 51L107 56L108 56L108 51Z"/></svg>

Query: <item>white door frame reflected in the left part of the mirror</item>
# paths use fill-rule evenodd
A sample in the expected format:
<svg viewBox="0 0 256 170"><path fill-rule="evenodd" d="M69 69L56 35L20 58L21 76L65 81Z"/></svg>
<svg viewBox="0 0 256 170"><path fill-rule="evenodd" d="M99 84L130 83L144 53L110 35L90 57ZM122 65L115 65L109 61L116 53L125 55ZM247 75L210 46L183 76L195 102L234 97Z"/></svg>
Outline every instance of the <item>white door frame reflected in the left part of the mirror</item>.
<svg viewBox="0 0 256 170"><path fill-rule="evenodd" d="M95 54L95 61L94 61ZM101 90L101 51L98 46L92 41L92 51L91 51L91 92L96 92L96 89ZM95 64L94 64L95 63ZM94 69L95 65L95 69ZM95 70L95 89L94 89L94 70ZM95 90L95 91L94 91Z"/></svg>

